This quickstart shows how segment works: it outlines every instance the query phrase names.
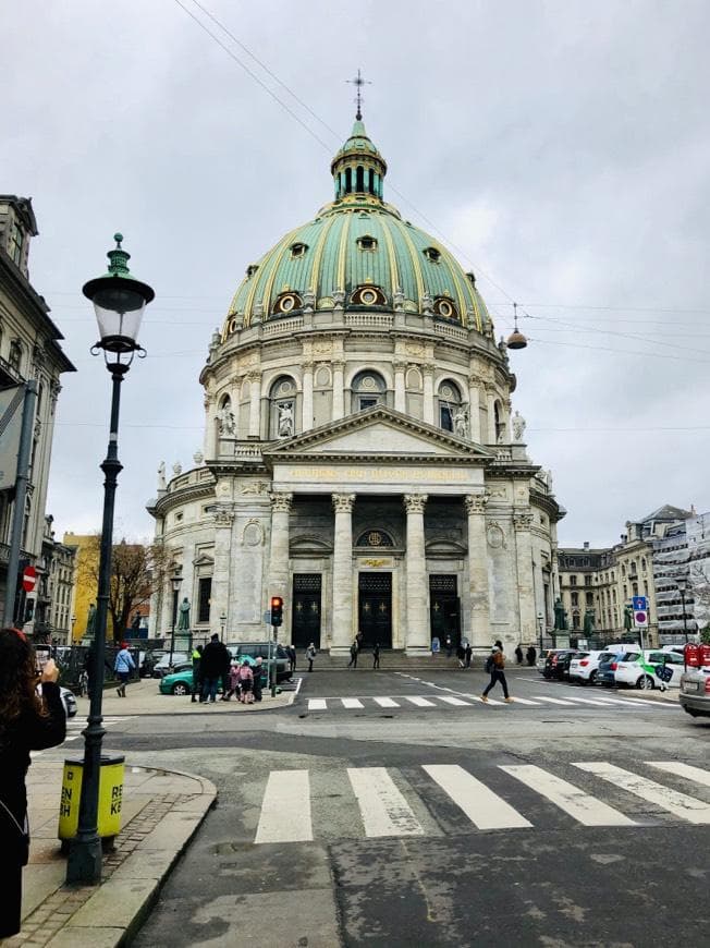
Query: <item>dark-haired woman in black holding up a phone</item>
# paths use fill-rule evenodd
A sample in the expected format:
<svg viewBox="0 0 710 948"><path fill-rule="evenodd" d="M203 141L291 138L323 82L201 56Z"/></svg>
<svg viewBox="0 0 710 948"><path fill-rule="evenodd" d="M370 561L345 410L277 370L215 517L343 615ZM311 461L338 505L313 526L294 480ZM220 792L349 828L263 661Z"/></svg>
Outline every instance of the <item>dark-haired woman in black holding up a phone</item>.
<svg viewBox="0 0 710 948"><path fill-rule="evenodd" d="M29 752L61 744L66 734L58 678L51 658L41 673L37 671L24 633L0 630L0 938L20 932L22 867L29 854L25 788Z"/></svg>

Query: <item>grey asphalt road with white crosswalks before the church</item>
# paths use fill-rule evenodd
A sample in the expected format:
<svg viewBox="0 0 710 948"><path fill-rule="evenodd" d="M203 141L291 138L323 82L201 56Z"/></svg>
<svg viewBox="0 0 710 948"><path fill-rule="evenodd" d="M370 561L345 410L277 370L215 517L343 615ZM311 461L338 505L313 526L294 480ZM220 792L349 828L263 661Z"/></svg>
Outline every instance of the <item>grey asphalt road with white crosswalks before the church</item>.
<svg viewBox="0 0 710 948"><path fill-rule="evenodd" d="M534 670L487 705L478 671L303 679L277 713L109 726L219 788L138 946L707 943L710 721Z"/></svg>

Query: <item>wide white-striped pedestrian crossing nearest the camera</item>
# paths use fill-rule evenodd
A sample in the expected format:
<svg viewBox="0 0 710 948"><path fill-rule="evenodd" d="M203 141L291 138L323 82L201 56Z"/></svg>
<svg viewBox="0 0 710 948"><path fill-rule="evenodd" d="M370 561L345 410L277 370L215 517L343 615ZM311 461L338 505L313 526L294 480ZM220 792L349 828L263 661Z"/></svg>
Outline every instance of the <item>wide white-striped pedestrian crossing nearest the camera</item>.
<svg viewBox="0 0 710 948"><path fill-rule="evenodd" d="M635 763L634 770L607 761L565 766L575 768L578 780L589 786L580 787L576 780L531 764L489 768L483 779L458 764L421 764L403 769L347 767L339 806L343 813L357 813L356 830L348 835L368 839L440 836L446 831L446 817L441 816L446 807L457 814L453 825L458 829L466 825L478 830L548 829L554 814L566 821L568 828L648 827L669 819L710 825L710 771L706 769L676 761ZM665 782L645 776L639 773L641 768L648 768L653 776L660 771ZM669 786L668 781L674 780L684 790ZM517 800L519 785L524 788L523 803ZM685 792L686 785L700 795ZM601 799L605 792L611 792L612 802ZM332 838L333 821L320 818L318 812L325 797L328 794L317 792L307 769L270 771L254 842Z"/></svg>

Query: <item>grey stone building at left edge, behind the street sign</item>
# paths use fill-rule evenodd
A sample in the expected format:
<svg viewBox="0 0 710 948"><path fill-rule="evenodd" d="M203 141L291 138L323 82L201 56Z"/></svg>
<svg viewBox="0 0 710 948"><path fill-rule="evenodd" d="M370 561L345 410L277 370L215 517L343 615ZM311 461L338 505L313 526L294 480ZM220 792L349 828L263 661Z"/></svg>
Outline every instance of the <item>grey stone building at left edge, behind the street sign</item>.
<svg viewBox="0 0 710 948"><path fill-rule="evenodd" d="M37 233L32 200L0 195L0 390L16 389L29 379L37 382L21 567L35 566L38 585L41 585L41 578L47 575L42 564L42 544L54 409L61 389L60 378L65 372L74 372L74 366L60 347L63 336L49 316L49 306L29 282L29 247ZM2 459L3 467L13 464L14 457ZM0 489L0 601L7 586L13 496L14 477L11 476L2 481ZM24 612L24 606L21 611ZM23 619L24 615L16 616L19 622ZM25 630L32 633L34 628L33 616Z"/></svg>

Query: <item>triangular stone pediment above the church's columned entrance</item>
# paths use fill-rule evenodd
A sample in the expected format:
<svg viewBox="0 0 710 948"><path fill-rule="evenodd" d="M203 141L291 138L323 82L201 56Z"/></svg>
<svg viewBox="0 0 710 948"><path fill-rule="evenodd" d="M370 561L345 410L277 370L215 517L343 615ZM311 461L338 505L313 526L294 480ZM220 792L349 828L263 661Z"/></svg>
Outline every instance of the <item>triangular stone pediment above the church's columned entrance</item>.
<svg viewBox="0 0 710 948"><path fill-rule="evenodd" d="M491 457L480 445L379 405L281 441L264 453L273 461L311 454L318 458L429 457L432 460Z"/></svg>

